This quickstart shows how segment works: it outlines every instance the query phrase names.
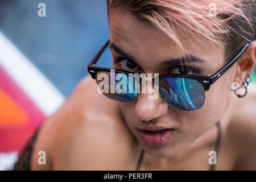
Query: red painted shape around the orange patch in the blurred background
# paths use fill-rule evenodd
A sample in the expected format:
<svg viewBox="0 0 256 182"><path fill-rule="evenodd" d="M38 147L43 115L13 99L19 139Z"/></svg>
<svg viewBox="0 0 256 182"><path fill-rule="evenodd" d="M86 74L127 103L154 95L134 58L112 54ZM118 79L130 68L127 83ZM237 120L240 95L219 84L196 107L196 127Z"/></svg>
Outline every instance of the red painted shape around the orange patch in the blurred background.
<svg viewBox="0 0 256 182"><path fill-rule="evenodd" d="M0 67L0 89L26 111L28 122L27 125L0 126L0 152L20 152L46 115L2 67Z"/></svg>

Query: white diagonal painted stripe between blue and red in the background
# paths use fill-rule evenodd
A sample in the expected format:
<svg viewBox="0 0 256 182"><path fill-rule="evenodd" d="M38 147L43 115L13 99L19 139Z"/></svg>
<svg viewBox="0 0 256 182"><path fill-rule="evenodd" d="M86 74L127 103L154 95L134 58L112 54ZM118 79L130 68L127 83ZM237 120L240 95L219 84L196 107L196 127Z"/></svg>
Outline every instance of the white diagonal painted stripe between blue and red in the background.
<svg viewBox="0 0 256 182"><path fill-rule="evenodd" d="M46 115L64 103L65 97L1 31L0 65Z"/></svg>

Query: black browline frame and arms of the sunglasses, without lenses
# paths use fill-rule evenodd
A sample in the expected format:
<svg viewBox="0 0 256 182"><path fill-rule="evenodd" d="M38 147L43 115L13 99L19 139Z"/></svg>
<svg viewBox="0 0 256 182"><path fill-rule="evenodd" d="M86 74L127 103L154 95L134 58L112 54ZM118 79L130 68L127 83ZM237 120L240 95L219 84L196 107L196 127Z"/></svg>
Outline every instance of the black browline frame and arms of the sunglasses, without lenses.
<svg viewBox="0 0 256 182"><path fill-rule="evenodd" d="M229 68L232 67L234 63L242 56L243 52L245 52L245 49L249 46L250 43L246 43L246 45L241 49L241 51L231 60L229 61L224 67L220 68L217 72L215 72L213 75L209 76L202 76L202 75L181 75L181 74L164 74L164 75L159 75L159 78L167 78L167 77L172 77L172 78L189 78L192 80L197 80L199 81L203 86L204 90L207 91L210 88L210 85L212 85L215 81L218 80L226 71L228 71ZM102 46L99 51L96 53L96 55L93 57L92 61L90 61L88 65L88 72L92 76L93 79L96 79L97 72L101 71L106 71L110 72L110 69L113 68L105 68L105 67L98 67L96 66L96 63L98 59L100 59L100 56L102 53L105 51L106 47L109 45L109 40ZM129 71L123 71L122 69L115 69L115 72L117 73L123 73L125 75L129 75ZM154 78L152 78L154 81ZM141 79L140 79L141 82Z"/></svg>

